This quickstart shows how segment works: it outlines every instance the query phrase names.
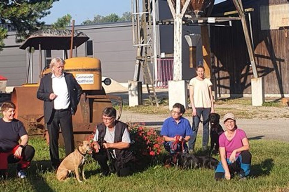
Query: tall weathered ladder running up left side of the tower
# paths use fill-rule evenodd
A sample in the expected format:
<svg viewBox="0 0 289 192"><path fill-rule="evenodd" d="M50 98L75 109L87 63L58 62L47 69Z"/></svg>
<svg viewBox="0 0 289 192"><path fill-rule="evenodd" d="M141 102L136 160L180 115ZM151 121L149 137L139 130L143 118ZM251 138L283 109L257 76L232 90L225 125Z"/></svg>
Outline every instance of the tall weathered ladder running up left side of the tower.
<svg viewBox="0 0 289 192"><path fill-rule="evenodd" d="M140 66L144 76L144 83L147 87L147 93L151 105L159 106L159 101L156 96L153 78L150 72L149 63L152 63L152 21L151 21L151 1L142 0L142 12L139 12L139 0L132 0L132 23L133 23L133 46L137 47L136 66L133 76L134 81L139 80ZM135 3L134 3L135 2ZM134 9L134 5L136 9ZM135 24L136 22L136 24ZM151 85L151 86L149 86Z"/></svg>

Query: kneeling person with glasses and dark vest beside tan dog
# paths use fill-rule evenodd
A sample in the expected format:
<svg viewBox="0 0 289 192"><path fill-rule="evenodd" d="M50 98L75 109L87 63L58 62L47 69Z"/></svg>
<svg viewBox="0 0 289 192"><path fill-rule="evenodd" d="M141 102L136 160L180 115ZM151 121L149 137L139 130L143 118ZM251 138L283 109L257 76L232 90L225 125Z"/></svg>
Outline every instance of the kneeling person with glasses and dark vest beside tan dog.
<svg viewBox="0 0 289 192"><path fill-rule="evenodd" d="M103 123L97 126L93 139L95 152L92 157L98 161L104 176L111 172L116 172L118 176L127 176L132 173L131 162L134 159L132 152L128 150L131 143L128 125L115 118L116 110L113 107L103 110Z"/></svg>

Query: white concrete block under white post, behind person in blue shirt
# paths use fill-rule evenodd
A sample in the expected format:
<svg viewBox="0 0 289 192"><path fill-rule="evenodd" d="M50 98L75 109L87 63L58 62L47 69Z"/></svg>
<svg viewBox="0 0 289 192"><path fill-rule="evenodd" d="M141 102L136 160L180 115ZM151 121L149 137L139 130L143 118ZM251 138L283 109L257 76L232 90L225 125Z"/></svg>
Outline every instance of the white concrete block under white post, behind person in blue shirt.
<svg viewBox="0 0 289 192"><path fill-rule="evenodd" d="M181 103L188 108L188 90L185 80L172 80L168 82L169 109L173 109L175 103Z"/></svg>

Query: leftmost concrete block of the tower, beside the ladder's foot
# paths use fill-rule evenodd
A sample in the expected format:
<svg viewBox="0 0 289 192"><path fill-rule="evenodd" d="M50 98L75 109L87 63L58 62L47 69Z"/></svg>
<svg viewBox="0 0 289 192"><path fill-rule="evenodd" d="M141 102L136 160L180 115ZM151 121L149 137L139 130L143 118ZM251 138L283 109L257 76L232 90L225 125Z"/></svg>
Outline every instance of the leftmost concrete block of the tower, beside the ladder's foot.
<svg viewBox="0 0 289 192"><path fill-rule="evenodd" d="M128 81L128 103L130 107L142 104L141 81Z"/></svg>

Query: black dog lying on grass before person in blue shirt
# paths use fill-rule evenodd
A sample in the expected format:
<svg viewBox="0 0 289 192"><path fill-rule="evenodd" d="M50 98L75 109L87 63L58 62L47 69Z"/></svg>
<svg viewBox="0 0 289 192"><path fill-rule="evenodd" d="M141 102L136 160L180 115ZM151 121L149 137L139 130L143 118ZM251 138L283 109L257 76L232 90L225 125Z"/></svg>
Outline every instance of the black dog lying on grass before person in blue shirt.
<svg viewBox="0 0 289 192"><path fill-rule="evenodd" d="M194 156L188 153L169 154L163 160L165 167L178 166L184 169L208 168L215 169L219 163L213 157Z"/></svg>

